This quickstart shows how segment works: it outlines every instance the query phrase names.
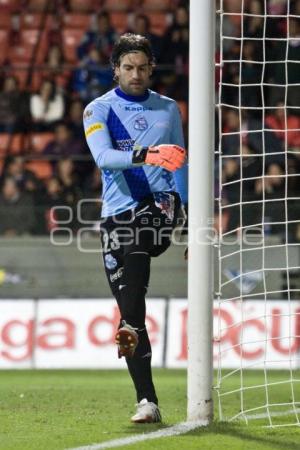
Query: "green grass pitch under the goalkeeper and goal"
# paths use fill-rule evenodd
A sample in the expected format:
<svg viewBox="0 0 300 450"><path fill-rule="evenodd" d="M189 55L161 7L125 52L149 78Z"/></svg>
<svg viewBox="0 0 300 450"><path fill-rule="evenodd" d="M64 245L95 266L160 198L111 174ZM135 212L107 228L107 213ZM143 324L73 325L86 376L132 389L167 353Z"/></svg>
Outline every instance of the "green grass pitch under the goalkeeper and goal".
<svg viewBox="0 0 300 450"><path fill-rule="evenodd" d="M183 370L154 370L163 424L133 425L135 399L125 371L2 371L0 372L0 449L63 450L111 439L155 431L186 420L186 373ZM288 372L276 371L268 382L276 401L290 401ZM248 372L247 407L264 404L266 391L252 389L263 373ZM240 386L239 374L228 377L226 390ZM299 387L299 385L298 385ZM296 385L297 389L297 385ZM299 389L294 396L298 395ZM273 400L274 400L273 398ZM297 399L296 399L297 400ZM224 413L239 410L240 392L228 396ZM216 402L217 403L217 402ZM216 405L217 406L217 405ZM265 412L265 411L257 411ZM274 418L277 423L295 422L295 415ZM255 423L254 423L255 422ZM257 423L258 422L258 423ZM265 422L266 423L266 422ZM276 422L275 422L276 423ZM299 450L300 427L263 428L262 421L215 422L185 435L138 442L126 449L158 450Z"/></svg>

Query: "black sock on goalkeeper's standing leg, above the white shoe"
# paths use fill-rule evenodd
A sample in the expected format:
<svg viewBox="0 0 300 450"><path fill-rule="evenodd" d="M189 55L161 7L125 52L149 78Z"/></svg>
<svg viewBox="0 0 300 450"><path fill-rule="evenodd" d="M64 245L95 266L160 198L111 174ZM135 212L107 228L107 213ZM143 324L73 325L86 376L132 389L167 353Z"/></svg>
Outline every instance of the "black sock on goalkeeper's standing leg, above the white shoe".
<svg viewBox="0 0 300 450"><path fill-rule="evenodd" d="M146 398L148 402L158 404L152 381L151 344L146 328L138 331L139 343L132 358L126 358L129 373L133 380L137 401Z"/></svg>

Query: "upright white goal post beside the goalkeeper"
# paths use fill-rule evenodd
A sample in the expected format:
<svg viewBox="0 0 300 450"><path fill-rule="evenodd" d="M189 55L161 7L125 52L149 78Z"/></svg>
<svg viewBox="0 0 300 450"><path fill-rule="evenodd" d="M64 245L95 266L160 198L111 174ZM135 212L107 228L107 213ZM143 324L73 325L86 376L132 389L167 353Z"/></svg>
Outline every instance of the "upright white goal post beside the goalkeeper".
<svg viewBox="0 0 300 450"><path fill-rule="evenodd" d="M213 416L214 20L213 1L190 1L188 420L203 425Z"/></svg>

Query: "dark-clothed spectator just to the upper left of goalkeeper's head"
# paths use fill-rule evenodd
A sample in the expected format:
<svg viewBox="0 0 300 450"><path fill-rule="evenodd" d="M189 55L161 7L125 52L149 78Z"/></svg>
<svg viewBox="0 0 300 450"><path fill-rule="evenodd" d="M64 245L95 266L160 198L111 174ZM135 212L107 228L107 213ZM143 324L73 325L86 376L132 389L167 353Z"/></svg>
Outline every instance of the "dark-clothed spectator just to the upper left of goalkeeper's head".
<svg viewBox="0 0 300 450"><path fill-rule="evenodd" d="M107 12L99 13L96 21L96 29L87 31L78 47L77 54L81 60L89 54L92 48L100 50L106 58L109 58L112 46L118 37L112 28Z"/></svg>

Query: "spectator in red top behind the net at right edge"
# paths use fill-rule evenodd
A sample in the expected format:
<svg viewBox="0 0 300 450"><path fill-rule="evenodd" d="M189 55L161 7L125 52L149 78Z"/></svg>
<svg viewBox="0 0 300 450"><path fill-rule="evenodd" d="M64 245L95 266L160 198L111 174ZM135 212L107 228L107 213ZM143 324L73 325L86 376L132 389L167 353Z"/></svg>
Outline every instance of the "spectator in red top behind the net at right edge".
<svg viewBox="0 0 300 450"><path fill-rule="evenodd" d="M300 117L290 114L283 102L278 102L273 114L267 115L266 124L274 129L274 133L283 145L286 136L288 148L300 151Z"/></svg>

